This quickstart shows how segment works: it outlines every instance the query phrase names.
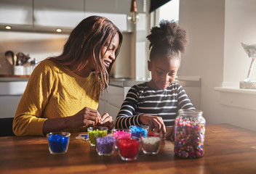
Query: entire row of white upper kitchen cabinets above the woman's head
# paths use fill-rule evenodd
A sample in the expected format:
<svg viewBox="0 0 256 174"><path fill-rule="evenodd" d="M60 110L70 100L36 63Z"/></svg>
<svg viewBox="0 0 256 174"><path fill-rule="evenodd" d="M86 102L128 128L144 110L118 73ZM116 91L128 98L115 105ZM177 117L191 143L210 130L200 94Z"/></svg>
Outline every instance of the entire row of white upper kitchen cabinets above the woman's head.
<svg viewBox="0 0 256 174"><path fill-rule="evenodd" d="M145 14L145 0L137 0L139 13ZM55 32L71 29L90 15L100 15L111 20L121 31L132 32L134 25L127 21L129 0L1 0L0 29L12 25L12 30Z"/></svg>

